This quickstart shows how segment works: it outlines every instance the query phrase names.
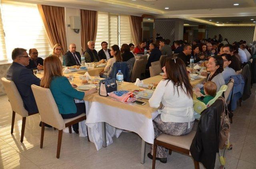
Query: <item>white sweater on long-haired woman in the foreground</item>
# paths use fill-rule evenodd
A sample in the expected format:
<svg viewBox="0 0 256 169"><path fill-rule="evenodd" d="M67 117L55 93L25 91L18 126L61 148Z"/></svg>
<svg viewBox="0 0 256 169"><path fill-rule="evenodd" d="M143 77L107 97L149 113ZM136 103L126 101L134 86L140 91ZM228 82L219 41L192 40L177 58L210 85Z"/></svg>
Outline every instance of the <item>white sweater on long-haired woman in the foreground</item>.
<svg viewBox="0 0 256 169"><path fill-rule="evenodd" d="M158 108L162 102L163 108L158 112L161 112L163 122L188 122L190 124L195 120L193 99L186 95L181 86L177 89L172 81L167 82L168 80L162 80L158 83L155 92L148 100L150 107ZM183 88L186 91L184 86Z"/></svg>

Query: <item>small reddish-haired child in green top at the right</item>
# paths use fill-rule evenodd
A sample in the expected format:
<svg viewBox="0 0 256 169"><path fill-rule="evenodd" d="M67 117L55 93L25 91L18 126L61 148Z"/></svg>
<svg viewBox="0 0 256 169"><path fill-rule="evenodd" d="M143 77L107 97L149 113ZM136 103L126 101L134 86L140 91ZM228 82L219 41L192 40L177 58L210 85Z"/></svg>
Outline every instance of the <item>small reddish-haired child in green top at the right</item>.
<svg viewBox="0 0 256 169"><path fill-rule="evenodd" d="M217 86L214 82L208 81L204 83L204 96L197 97L198 100L207 104L216 95Z"/></svg>

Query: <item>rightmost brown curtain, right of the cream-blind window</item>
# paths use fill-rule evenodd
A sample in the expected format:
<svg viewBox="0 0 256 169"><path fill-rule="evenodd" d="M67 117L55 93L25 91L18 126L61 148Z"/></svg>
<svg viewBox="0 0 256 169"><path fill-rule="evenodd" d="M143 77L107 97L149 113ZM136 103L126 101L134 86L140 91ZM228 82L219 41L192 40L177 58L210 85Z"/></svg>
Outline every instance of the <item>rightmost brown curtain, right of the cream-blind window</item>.
<svg viewBox="0 0 256 169"><path fill-rule="evenodd" d="M130 26L132 31L132 39L135 43L135 46L138 45L140 41L142 41L142 28L141 24L143 21L143 18L140 16L129 16L130 19Z"/></svg>

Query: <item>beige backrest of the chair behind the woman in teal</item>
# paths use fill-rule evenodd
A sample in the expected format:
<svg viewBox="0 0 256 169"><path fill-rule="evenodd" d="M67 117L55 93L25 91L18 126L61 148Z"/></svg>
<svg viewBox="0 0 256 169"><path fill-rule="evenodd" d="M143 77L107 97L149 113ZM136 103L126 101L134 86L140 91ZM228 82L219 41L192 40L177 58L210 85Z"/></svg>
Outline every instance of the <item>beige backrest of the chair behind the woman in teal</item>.
<svg viewBox="0 0 256 169"><path fill-rule="evenodd" d="M49 124L58 130L65 128L65 123L59 113L57 104L49 88L31 85L36 104L40 112L41 121Z"/></svg>

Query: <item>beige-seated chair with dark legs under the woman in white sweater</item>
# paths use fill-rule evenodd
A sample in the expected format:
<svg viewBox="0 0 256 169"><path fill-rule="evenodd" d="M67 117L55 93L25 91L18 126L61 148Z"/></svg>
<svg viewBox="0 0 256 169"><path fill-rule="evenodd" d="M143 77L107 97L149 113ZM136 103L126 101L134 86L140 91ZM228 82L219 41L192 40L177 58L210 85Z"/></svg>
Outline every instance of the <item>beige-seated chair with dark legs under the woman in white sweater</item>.
<svg viewBox="0 0 256 169"><path fill-rule="evenodd" d="M156 147L157 145L163 146L169 149L169 154L172 154L172 150L183 153L186 155L190 155L190 145L192 140L196 134L196 127L194 125L193 130L184 136L171 136L168 134L161 134L154 140L154 149L153 149L153 161L152 161L152 169L155 169L156 165ZM195 169L199 169L198 161L194 161Z"/></svg>

